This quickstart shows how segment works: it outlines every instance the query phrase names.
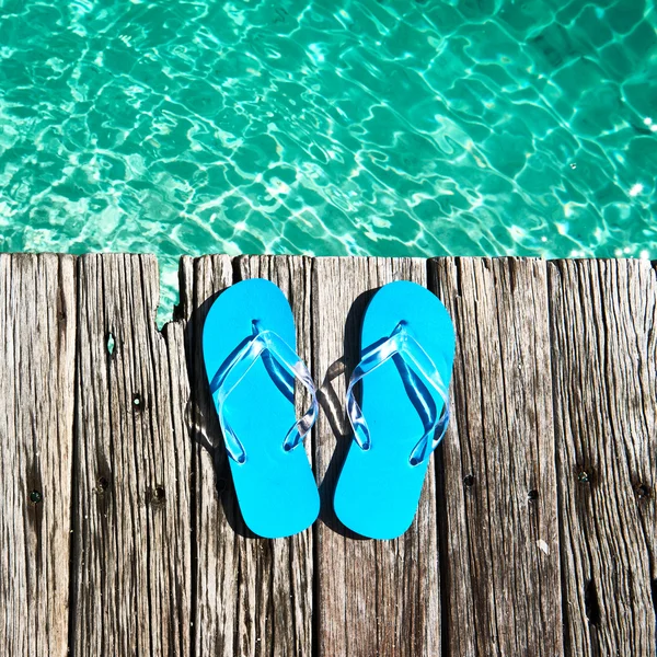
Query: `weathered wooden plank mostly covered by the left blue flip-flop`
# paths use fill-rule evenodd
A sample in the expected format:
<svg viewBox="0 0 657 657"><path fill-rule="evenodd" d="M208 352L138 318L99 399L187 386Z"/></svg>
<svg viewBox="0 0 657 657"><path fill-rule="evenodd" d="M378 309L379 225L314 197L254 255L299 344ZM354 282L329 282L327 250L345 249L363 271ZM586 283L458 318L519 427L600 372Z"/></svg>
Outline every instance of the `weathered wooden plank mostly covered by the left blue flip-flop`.
<svg viewBox="0 0 657 657"><path fill-rule="evenodd" d="M312 532L268 541L244 526L203 365L203 322L212 301L231 283L250 277L268 278L283 289L297 321L299 353L310 357L308 258L254 256L231 263L212 256L194 262L196 654L310 655Z"/></svg>

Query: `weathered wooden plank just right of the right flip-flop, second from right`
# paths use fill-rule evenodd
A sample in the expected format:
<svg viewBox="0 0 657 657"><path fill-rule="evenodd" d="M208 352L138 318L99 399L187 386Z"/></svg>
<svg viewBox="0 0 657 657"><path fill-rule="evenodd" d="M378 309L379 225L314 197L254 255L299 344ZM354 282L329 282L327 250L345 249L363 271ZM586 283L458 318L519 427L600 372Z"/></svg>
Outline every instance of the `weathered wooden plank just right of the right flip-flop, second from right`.
<svg viewBox="0 0 657 657"><path fill-rule="evenodd" d="M545 263L439 258L457 328L441 452L449 655L562 653Z"/></svg>

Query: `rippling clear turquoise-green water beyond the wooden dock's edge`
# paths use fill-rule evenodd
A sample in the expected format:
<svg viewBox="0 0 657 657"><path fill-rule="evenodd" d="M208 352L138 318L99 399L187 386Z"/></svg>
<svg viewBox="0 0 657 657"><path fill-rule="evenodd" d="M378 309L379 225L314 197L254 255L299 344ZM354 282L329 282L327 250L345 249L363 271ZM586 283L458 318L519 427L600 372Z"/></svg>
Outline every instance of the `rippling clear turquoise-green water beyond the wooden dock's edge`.
<svg viewBox="0 0 657 657"><path fill-rule="evenodd" d="M0 251L657 257L641 0L0 0Z"/></svg>

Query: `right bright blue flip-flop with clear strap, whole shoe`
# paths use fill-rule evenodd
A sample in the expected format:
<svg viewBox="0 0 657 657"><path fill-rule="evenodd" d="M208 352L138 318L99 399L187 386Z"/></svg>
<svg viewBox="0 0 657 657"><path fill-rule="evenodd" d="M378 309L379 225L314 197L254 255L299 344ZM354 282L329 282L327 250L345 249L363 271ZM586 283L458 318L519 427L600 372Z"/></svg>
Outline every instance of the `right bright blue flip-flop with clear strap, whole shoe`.
<svg viewBox="0 0 657 657"><path fill-rule="evenodd" d="M373 296L347 390L354 438L334 496L337 517L360 535L394 539L411 527L449 422L453 359L453 324L435 295L397 281Z"/></svg>

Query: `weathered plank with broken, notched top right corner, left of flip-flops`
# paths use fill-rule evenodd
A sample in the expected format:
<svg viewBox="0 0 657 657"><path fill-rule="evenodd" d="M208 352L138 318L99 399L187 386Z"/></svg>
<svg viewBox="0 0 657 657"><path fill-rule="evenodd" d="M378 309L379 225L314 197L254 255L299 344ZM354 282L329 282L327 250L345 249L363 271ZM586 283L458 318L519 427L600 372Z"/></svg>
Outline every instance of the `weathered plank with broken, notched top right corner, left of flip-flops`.
<svg viewBox="0 0 657 657"><path fill-rule="evenodd" d="M74 654L187 655L183 326L157 330L154 257L88 255L78 274Z"/></svg>

